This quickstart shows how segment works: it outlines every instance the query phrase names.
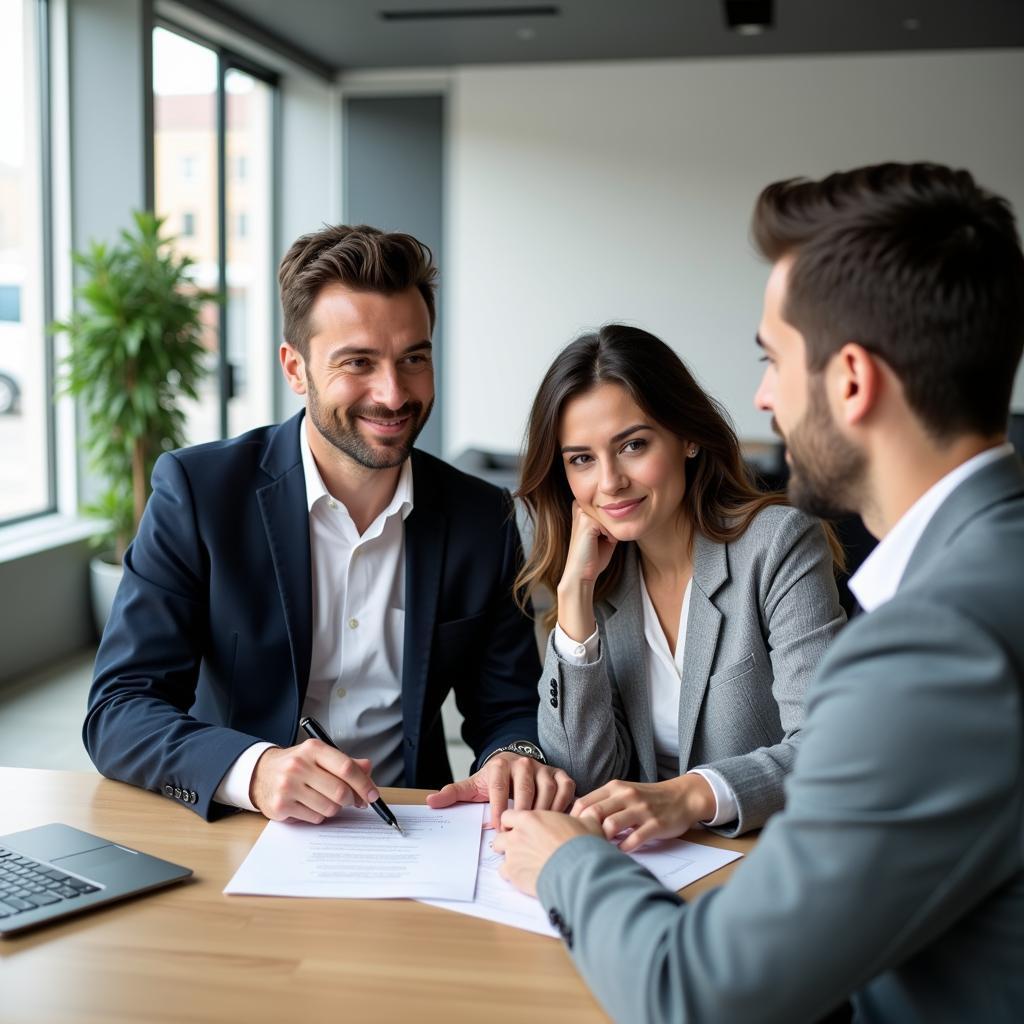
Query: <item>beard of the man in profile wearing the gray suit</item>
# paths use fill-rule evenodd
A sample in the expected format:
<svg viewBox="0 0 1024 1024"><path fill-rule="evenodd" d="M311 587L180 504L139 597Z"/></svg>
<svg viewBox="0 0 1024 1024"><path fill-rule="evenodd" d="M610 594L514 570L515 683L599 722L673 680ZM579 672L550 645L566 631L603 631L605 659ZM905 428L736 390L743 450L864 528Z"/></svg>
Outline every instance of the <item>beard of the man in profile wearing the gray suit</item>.
<svg viewBox="0 0 1024 1024"><path fill-rule="evenodd" d="M820 379L810 383L804 418L782 435L790 453L790 501L808 515L838 519L858 512L865 494L867 458L833 422Z"/></svg>

